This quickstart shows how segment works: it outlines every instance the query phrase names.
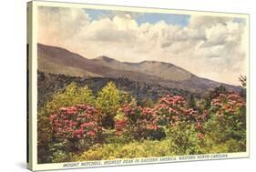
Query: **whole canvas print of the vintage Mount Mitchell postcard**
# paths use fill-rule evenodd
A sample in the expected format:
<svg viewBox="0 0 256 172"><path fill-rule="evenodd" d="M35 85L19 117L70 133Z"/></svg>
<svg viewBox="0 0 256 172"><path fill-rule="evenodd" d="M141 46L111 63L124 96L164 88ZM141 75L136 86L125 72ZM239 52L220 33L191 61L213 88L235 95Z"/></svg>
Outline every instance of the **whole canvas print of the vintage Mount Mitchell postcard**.
<svg viewBox="0 0 256 172"><path fill-rule="evenodd" d="M249 157L249 15L27 4L32 170Z"/></svg>

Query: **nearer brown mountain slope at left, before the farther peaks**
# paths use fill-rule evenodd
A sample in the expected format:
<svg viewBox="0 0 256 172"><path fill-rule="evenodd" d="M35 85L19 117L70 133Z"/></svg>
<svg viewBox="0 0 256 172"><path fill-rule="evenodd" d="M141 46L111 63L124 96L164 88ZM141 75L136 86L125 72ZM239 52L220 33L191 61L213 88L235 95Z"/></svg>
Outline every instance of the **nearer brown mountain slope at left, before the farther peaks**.
<svg viewBox="0 0 256 172"><path fill-rule="evenodd" d="M159 80L156 76L104 66L95 60L87 59L60 47L40 44L37 47L38 70L46 73L85 77L127 77L153 83Z"/></svg>

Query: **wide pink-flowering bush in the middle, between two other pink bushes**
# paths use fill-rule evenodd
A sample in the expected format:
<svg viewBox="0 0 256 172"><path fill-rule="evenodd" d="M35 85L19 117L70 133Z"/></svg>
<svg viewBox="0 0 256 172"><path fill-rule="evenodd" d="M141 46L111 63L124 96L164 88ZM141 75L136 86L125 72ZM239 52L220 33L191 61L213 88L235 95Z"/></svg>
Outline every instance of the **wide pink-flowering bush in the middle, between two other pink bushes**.
<svg viewBox="0 0 256 172"><path fill-rule="evenodd" d="M160 139L166 136L166 126L170 127L179 121L196 123L196 128L200 130L207 116L206 112L199 115L196 110L189 108L182 96L164 96L153 107L125 104L122 112L127 118L116 121L118 134L128 130L135 138Z"/></svg>

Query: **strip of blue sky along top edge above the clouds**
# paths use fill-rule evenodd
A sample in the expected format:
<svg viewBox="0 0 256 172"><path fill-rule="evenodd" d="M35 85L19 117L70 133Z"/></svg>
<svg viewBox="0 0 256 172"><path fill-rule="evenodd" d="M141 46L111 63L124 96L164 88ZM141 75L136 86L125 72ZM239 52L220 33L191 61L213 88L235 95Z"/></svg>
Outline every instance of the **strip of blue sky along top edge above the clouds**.
<svg viewBox="0 0 256 172"><path fill-rule="evenodd" d="M143 23L156 24L159 21L165 21L169 25L189 25L190 15L174 15L174 14L159 14L159 13L135 13L135 12L118 12L109 10L85 9L86 13L92 20L98 20L102 17L113 17L117 14L129 14L134 18L138 25Z"/></svg>

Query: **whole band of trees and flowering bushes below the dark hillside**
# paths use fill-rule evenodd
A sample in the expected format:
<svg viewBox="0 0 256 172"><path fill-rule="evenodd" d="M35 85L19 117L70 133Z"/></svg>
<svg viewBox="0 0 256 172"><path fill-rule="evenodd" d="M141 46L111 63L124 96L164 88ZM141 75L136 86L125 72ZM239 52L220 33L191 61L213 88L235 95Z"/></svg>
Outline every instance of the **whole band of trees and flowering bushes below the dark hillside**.
<svg viewBox="0 0 256 172"><path fill-rule="evenodd" d="M109 81L71 82L38 108L38 163L246 151L246 80L203 96L138 100Z"/></svg>

